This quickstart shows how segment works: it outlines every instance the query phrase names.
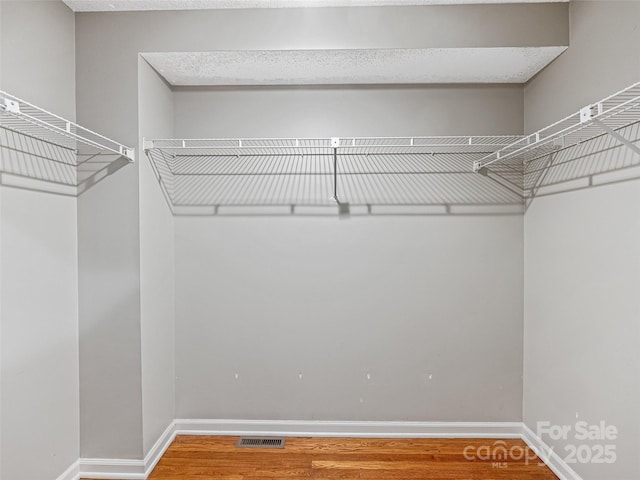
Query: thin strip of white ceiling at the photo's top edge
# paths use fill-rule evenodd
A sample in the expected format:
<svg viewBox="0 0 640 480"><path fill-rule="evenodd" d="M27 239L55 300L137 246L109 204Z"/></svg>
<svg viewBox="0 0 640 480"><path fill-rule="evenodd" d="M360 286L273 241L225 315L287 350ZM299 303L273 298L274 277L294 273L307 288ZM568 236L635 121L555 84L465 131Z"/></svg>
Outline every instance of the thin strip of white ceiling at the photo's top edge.
<svg viewBox="0 0 640 480"><path fill-rule="evenodd" d="M376 7L491 3L567 3L569 0L62 0L74 12L236 8Z"/></svg>

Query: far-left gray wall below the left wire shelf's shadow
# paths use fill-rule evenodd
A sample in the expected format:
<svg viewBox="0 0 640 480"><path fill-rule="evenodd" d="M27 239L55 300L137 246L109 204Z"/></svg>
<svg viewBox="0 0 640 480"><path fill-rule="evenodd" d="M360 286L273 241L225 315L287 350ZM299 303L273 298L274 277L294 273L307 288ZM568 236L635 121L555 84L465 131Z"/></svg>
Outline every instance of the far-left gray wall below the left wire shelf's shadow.
<svg viewBox="0 0 640 480"><path fill-rule="evenodd" d="M57 478L79 455L75 199L2 189L2 472Z"/></svg>

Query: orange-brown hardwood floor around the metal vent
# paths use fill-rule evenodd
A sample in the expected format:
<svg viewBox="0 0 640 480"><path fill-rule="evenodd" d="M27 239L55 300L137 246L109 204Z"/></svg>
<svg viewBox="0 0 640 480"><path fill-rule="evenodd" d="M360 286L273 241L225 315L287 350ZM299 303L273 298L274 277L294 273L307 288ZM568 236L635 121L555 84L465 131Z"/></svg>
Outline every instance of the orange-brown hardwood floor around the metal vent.
<svg viewBox="0 0 640 480"><path fill-rule="evenodd" d="M557 480L521 440L287 437L280 450L237 440L178 436L149 480ZM498 458L500 446L514 458Z"/></svg>

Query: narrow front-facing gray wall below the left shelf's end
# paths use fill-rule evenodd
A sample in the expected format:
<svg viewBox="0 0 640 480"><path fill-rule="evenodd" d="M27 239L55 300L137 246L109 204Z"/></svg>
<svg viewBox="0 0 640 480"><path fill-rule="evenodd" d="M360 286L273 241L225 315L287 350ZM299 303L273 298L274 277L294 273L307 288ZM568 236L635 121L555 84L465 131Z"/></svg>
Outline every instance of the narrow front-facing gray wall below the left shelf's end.
<svg viewBox="0 0 640 480"><path fill-rule="evenodd" d="M99 127L101 110L85 108L94 119L89 124ZM142 456L137 169L125 166L78 198L83 458Z"/></svg>

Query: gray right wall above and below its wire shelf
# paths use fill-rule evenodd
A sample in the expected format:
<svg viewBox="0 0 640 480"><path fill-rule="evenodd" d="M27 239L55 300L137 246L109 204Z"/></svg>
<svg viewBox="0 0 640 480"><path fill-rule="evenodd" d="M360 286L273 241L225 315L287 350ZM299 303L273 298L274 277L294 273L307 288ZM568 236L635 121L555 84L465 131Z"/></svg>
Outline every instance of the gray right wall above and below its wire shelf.
<svg viewBox="0 0 640 480"><path fill-rule="evenodd" d="M640 80L640 3L574 1L571 46L525 89L528 131ZM584 161L597 162L598 158ZM640 477L638 181L534 200L525 215L524 419L615 425L613 465L585 480ZM565 441L543 438L564 457Z"/></svg>

